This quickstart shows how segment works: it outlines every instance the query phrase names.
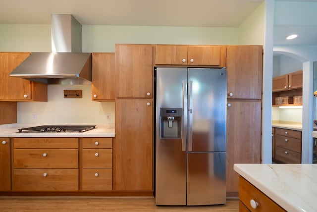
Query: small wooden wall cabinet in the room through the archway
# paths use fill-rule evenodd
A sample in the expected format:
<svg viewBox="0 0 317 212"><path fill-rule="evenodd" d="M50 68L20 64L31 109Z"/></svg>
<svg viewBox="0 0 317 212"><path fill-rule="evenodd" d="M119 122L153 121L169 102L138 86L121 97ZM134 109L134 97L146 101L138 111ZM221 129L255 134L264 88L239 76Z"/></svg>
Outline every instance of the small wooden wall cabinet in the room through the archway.
<svg viewBox="0 0 317 212"><path fill-rule="evenodd" d="M303 71L295 71L289 74L273 78L272 91L287 91L303 87Z"/></svg>

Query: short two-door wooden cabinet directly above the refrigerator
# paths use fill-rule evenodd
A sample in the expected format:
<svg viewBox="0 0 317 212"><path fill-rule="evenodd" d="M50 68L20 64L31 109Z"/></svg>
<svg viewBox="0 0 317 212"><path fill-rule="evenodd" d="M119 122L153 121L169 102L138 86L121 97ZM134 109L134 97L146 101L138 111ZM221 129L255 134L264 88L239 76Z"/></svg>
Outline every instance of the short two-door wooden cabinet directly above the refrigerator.
<svg viewBox="0 0 317 212"><path fill-rule="evenodd" d="M225 66L225 46L156 45L157 65Z"/></svg>

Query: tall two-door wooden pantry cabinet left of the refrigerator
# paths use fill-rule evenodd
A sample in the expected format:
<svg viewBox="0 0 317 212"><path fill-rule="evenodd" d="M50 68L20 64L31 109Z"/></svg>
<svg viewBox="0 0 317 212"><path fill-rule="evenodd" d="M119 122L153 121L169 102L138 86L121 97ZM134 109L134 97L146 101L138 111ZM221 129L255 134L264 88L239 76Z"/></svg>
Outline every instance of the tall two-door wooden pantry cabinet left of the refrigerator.
<svg viewBox="0 0 317 212"><path fill-rule="evenodd" d="M153 192L153 47L115 45L114 182Z"/></svg>

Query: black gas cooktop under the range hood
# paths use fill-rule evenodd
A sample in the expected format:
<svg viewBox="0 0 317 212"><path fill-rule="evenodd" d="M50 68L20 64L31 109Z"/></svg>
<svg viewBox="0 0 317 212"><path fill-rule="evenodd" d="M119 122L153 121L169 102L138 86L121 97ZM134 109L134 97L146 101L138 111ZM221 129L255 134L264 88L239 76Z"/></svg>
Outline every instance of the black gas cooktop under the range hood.
<svg viewBox="0 0 317 212"><path fill-rule="evenodd" d="M86 132L95 129L96 125L42 125L36 127L20 128L19 133L37 133L37 132Z"/></svg>

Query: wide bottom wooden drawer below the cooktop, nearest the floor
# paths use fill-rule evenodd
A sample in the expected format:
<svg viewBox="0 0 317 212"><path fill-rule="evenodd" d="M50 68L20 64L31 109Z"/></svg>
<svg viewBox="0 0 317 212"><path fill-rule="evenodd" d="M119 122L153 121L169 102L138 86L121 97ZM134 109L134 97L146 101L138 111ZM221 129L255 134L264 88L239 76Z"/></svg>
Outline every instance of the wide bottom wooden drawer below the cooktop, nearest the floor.
<svg viewBox="0 0 317 212"><path fill-rule="evenodd" d="M78 169L15 168L13 191L78 191Z"/></svg>

